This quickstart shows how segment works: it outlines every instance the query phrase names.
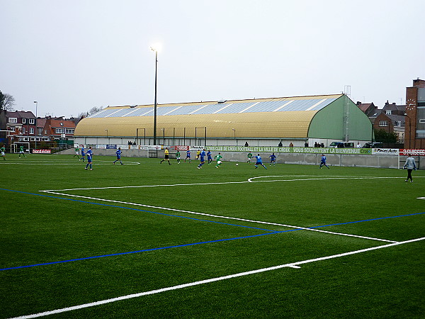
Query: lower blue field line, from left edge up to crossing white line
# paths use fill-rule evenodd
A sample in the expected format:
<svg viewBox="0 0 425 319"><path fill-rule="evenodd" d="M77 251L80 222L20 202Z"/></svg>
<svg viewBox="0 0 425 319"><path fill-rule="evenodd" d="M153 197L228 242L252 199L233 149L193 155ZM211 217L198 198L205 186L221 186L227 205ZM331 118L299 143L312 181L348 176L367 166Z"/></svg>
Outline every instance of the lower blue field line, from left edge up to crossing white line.
<svg viewBox="0 0 425 319"><path fill-rule="evenodd" d="M297 229L294 229L294 230L297 230ZM99 256L91 256L91 257L69 259L69 260L60 260L59 262L45 262L45 263L42 263L42 264L29 264L29 265L26 265L26 266L1 268L0 271L11 270L11 269L29 268L29 267L37 267L37 266L46 266L48 264L62 264L64 262L77 262L79 260L86 260L86 259L111 257L111 256L120 256L122 254L135 254L137 252L153 252L154 250L166 250L166 249L169 249L169 248L178 248L178 247L188 247L188 246L201 245L201 244L210 244L212 242L227 242L229 240L239 240L239 239L245 239L245 238L259 237L259 236L272 235L272 234L277 234L277 233L285 233L285 232L290 232L290 231L294 231L294 230L283 230L283 231L278 231L278 232L273 232L273 233L264 233L264 234L250 235L250 236L244 236L244 237L234 237L234 238L227 238L227 239L221 239L221 240L209 240L207 242L193 242L191 244L183 244L183 245L167 246L167 247L158 247L158 248L151 248L151 249L148 249L148 250L135 250L134 252L118 252L116 254L102 254L102 255L99 255Z"/></svg>

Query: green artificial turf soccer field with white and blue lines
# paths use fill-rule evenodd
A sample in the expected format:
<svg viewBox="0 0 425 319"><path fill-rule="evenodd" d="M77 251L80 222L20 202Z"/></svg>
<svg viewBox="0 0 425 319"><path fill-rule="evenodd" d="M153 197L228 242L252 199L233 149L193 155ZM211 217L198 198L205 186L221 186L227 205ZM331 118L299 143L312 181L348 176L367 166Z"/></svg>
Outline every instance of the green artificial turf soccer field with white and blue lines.
<svg viewBox="0 0 425 319"><path fill-rule="evenodd" d="M0 318L424 318L424 171L6 158Z"/></svg>

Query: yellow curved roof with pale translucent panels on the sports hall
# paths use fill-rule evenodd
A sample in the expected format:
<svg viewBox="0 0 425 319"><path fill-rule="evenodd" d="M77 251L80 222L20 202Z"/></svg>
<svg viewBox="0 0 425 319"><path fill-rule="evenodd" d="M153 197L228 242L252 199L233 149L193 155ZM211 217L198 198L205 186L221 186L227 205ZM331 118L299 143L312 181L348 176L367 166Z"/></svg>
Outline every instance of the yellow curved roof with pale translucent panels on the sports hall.
<svg viewBox="0 0 425 319"><path fill-rule="evenodd" d="M341 97L176 103L157 106L157 135L217 138L307 138L317 111ZM81 120L74 136L153 135L154 106L113 106ZM139 128L138 134L136 133Z"/></svg>

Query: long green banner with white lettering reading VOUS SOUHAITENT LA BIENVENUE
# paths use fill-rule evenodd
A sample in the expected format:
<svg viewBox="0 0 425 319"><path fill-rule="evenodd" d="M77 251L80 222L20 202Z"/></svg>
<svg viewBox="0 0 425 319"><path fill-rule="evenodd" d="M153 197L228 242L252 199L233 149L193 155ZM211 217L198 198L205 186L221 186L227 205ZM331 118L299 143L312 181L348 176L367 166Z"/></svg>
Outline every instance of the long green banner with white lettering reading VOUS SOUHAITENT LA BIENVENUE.
<svg viewBox="0 0 425 319"><path fill-rule="evenodd" d="M372 154L372 150L370 148L207 146L205 147L205 149L215 151L215 152L275 152L275 153L358 154L358 155Z"/></svg>

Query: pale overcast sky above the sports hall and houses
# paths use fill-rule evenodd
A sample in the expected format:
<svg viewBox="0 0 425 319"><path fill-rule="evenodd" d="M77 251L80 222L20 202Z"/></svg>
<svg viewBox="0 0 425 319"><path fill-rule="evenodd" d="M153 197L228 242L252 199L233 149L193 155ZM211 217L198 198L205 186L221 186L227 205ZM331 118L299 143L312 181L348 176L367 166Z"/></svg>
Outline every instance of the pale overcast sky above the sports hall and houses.
<svg viewBox="0 0 425 319"><path fill-rule="evenodd" d="M424 0L0 0L16 109L335 94L402 103L425 79Z"/></svg>

